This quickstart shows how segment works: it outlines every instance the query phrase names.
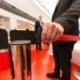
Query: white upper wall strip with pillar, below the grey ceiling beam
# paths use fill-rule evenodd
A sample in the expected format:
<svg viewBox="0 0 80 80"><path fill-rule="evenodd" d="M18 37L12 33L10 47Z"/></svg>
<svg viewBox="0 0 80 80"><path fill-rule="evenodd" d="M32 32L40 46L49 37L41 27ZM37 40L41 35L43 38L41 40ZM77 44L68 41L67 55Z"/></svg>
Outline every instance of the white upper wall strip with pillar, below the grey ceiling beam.
<svg viewBox="0 0 80 80"><path fill-rule="evenodd" d="M2 8L0 8L0 15L10 18L10 29L15 29L17 27L17 20L21 20L30 24L35 24L32 21L28 21L28 19L15 15L11 12L8 12Z"/></svg>

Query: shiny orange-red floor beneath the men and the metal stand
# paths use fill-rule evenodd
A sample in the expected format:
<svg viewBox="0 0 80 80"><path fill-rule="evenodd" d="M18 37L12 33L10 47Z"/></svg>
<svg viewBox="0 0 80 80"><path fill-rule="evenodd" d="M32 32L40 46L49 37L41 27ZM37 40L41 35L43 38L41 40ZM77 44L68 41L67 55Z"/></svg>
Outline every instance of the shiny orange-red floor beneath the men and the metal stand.
<svg viewBox="0 0 80 80"><path fill-rule="evenodd" d="M57 80L49 79L46 77L46 73L52 72L54 68L54 59L52 55L47 53L48 48L43 47L42 51L36 52L35 46L33 45L31 46L31 52L32 52L32 80ZM77 80L73 74L75 69L80 70L80 67L72 63L71 80ZM12 80L9 69L0 72L0 80Z"/></svg>

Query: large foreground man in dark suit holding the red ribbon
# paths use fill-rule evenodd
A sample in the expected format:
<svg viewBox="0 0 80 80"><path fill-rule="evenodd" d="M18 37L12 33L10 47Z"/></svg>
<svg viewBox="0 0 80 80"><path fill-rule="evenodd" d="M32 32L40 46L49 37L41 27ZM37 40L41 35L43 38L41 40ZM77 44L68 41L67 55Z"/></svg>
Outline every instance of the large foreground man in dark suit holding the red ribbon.
<svg viewBox="0 0 80 80"><path fill-rule="evenodd" d="M58 41L62 34L79 35L78 19L80 17L80 0L60 0L52 16L52 22L44 25L42 42L53 44L55 69L47 73L49 78L70 80L71 58L75 41Z"/></svg>

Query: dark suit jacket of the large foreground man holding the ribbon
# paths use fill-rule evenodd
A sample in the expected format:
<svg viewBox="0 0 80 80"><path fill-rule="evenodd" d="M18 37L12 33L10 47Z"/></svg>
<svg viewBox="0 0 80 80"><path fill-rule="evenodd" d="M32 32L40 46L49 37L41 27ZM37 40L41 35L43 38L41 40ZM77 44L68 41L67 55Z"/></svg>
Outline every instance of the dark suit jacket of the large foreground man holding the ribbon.
<svg viewBox="0 0 80 80"><path fill-rule="evenodd" d="M64 34L79 35L79 16L80 0L60 0L52 16L52 22L61 24L64 28ZM57 43L69 42L57 41Z"/></svg>

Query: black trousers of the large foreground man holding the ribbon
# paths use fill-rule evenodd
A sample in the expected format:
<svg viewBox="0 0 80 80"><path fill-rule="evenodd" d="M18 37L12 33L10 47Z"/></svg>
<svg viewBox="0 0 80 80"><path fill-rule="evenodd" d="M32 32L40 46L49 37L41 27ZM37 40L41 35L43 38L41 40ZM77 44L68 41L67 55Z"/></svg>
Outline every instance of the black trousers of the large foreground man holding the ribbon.
<svg viewBox="0 0 80 80"><path fill-rule="evenodd" d="M70 80L71 77L71 58L74 43L72 44L57 44L53 43L53 54L55 60L55 72L60 73L62 70L62 77L60 80Z"/></svg>

